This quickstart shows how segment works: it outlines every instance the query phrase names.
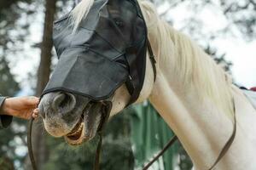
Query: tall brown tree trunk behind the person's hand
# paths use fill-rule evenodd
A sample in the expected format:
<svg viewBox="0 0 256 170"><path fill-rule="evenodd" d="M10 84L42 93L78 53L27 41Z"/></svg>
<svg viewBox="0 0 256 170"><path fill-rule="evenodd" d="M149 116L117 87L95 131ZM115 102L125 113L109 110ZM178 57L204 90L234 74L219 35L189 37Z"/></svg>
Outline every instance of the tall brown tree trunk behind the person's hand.
<svg viewBox="0 0 256 170"><path fill-rule="evenodd" d="M44 35L41 44L41 60L38 68L37 96L42 94L46 83L49 81L51 50L53 47L52 32L56 0L45 0L45 2ZM33 151L39 170L44 169L44 163L48 159L44 126L42 126L42 123L42 121L35 122L32 130Z"/></svg>

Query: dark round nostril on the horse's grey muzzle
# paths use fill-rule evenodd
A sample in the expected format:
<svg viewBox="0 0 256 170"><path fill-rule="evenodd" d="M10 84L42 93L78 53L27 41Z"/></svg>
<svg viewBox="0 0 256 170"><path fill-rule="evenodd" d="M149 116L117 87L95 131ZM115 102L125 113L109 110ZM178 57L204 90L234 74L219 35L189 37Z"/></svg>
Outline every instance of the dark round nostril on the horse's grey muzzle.
<svg viewBox="0 0 256 170"><path fill-rule="evenodd" d="M73 94L60 93L55 96L52 102L52 108L55 111L72 111L76 105L76 99Z"/></svg>

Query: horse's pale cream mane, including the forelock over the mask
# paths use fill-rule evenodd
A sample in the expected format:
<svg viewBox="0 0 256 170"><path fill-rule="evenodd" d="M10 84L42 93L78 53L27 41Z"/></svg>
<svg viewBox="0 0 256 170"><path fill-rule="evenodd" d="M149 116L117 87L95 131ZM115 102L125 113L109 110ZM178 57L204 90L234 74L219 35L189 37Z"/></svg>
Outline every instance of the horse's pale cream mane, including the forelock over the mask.
<svg viewBox="0 0 256 170"><path fill-rule="evenodd" d="M82 0L71 12L73 31L89 13L94 0ZM158 60L172 56L170 69L175 71L185 88L193 87L201 99L211 99L228 116L233 114L231 79L215 61L189 37L160 20L152 3L139 1L148 27L148 37L157 46ZM147 20L150 19L150 20ZM172 49L172 51L170 50Z"/></svg>

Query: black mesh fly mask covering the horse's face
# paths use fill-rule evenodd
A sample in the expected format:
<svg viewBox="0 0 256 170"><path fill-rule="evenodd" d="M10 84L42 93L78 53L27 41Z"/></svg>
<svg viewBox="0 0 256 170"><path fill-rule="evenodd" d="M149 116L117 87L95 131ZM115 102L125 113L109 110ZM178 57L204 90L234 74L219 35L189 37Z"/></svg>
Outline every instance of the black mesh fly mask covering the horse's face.
<svg viewBox="0 0 256 170"><path fill-rule="evenodd" d="M149 46L137 0L96 0L78 30L70 14L55 21L53 39L59 62L43 95L61 90L100 101L125 83L129 104L137 100Z"/></svg>

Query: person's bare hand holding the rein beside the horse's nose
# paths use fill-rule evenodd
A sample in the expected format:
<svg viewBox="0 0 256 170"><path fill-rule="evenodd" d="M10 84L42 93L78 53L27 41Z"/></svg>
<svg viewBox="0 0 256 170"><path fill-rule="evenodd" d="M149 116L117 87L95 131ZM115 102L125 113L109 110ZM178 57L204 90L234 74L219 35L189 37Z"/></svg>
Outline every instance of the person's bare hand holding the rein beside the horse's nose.
<svg viewBox="0 0 256 170"><path fill-rule="evenodd" d="M22 119L30 119L38 117L38 103L37 97L15 97L5 99L2 105L2 114L15 116Z"/></svg>

